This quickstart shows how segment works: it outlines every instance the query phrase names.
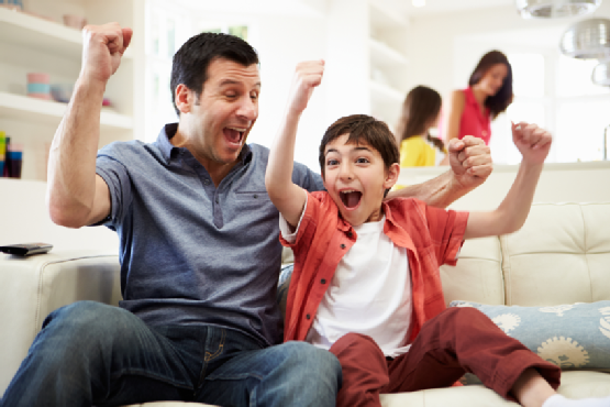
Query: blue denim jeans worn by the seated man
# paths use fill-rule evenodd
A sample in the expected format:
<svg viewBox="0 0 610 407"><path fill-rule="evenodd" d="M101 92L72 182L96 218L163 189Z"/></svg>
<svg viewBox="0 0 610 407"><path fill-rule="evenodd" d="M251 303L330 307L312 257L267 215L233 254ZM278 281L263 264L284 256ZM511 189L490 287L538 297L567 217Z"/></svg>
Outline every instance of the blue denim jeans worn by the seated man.
<svg viewBox="0 0 610 407"><path fill-rule="evenodd" d="M334 406L341 365L304 342L262 348L219 327L148 327L81 301L53 311L0 406Z"/></svg>

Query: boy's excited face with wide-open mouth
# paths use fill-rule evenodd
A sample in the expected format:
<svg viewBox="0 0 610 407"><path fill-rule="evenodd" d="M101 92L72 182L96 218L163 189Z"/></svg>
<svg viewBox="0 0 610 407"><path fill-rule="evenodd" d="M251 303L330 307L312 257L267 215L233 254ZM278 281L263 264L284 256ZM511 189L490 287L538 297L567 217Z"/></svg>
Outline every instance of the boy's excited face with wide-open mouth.
<svg viewBox="0 0 610 407"><path fill-rule="evenodd" d="M398 178L400 167L386 168L381 154L368 144L345 144L343 134L324 148L324 187L343 219L357 227L381 220L386 189Z"/></svg>

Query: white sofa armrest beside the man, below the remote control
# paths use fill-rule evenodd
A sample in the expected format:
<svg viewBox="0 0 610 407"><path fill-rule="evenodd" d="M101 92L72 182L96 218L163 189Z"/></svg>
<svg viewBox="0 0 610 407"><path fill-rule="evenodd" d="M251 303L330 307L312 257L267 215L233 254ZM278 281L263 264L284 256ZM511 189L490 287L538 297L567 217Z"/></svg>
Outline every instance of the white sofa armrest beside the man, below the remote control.
<svg viewBox="0 0 610 407"><path fill-rule="evenodd" d="M0 255L0 394L53 310L77 300L117 305L121 298L117 254L51 252Z"/></svg>

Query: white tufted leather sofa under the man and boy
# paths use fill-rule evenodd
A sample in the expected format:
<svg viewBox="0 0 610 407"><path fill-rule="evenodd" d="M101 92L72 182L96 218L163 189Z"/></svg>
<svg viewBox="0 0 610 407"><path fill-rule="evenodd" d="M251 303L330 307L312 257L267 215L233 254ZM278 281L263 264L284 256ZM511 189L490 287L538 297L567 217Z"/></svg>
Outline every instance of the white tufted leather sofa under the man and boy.
<svg viewBox="0 0 610 407"><path fill-rule="evenodd" d="M0 394L44 317L79 299L117 304L118 272L115 254L53 251L31 258L0 257ZM447 304L462 299L554 306L610 300L610 204L534 205L521 231L466 242L458 265L444 266L442 278ZM610 371L564 372L559 393L574 398L609 396ZM480 385L382 395L381 402L385 407L515 405Z"/></svg>

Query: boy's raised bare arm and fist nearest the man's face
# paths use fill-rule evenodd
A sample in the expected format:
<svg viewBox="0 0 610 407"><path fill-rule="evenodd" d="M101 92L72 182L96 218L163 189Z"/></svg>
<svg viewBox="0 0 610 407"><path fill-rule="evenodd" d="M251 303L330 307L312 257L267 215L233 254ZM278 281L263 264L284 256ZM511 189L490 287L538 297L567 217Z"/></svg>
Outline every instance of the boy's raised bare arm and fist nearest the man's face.
<svg viewBox="0 0 610 407"><path fill-rule="evenodd" d="M322 81L323 73L323 61L297 65L286 114L269 152L265 187L271 202L292 227L297 227L307 199L304 190L292 183L297 128L313 88Z"/></svg>

